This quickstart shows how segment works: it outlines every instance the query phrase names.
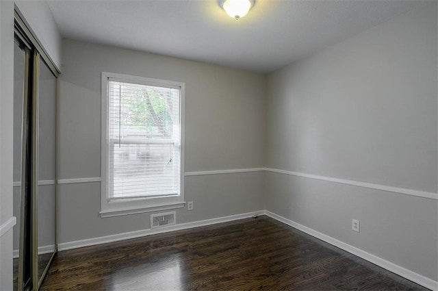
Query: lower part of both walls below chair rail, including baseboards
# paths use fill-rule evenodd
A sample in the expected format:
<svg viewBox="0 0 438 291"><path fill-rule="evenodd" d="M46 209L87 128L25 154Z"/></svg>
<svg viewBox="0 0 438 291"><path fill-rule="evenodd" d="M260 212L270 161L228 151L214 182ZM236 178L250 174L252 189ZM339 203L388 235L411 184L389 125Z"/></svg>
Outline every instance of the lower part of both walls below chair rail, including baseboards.
<svg viewBox="0 0 438 291"><path fill-rule="evenodd" d="M58 185L59 249L101 244L267 214L435 289L438 201L272 172L185 177L177 225L151 230L150 213L101 218L100 183ZM266 209L266 212L259 210ZM352 218L360 232L351 230ZM437 286L438 288L438 286Z"/></svg>

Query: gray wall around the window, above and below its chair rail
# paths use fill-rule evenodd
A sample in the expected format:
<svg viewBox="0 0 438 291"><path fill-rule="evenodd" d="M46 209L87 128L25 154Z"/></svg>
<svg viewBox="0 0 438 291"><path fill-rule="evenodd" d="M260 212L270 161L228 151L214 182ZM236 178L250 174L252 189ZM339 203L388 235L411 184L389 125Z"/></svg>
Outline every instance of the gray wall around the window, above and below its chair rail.
<svg viewBox="0 0 438 291"><path fill-rule="evenodd" d="M64 40L57 177L101 177L101 72L185 82L185 171L258 168L265 151L266 77L151 53ZM148 229L150 214L100 218L100 184L58 190L58 242ZM185 178L186 223L261 210L263 173Z"/></svg>

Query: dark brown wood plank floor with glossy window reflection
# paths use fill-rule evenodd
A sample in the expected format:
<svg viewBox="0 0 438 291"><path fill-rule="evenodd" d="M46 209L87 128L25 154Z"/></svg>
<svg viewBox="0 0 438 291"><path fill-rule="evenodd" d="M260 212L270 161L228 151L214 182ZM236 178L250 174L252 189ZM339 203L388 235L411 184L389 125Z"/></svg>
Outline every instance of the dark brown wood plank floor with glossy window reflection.
<svg viewBox="0 0 438 291"><path fill-rule="evenodd" d="M41 290L426 290L266 216L61 251Z"/></svg>

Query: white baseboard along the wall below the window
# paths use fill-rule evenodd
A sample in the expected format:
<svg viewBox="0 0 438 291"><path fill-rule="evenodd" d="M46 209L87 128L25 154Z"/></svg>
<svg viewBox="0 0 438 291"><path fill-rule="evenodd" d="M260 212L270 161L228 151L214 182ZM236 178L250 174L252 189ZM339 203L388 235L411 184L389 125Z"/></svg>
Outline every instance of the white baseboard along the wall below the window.
<svg viewBox="0 0 438 291"><path fill-rule="evenodd" d="M62 242L57 245L59 251L65 251L68 249L77 249L83 246L93 246L96 244L105 244L107 242L118 242L120 240L129 240L131 238L140 238L142 236L151 236L157 233L166 233L170 231L178 231L182 229L192 229L194 227L203 227L206 225L215 225L217 223L227 223L233 220L240 220L244 218L253 217L255 214L264 214L264 210L248 212L244 214L235 214L231 216L223 216L219 218L211 218L207 220L195 221L193 223L181 223L178 225L171 225L168 227L162 227L158 229L142 229L138 231L130 231L125 233L117 233L111 236L101 236L99 238L88 238L86 240L75 240L73 242Z"/></svg>

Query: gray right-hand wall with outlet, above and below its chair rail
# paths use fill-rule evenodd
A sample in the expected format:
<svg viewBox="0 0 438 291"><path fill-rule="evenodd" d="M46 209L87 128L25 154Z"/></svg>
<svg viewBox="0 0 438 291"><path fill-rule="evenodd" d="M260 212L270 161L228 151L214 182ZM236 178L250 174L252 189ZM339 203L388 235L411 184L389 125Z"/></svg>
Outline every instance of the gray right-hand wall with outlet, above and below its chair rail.
<svg viewBox="0 0 438 291"><path fill-rule="evenodd" d="M437 3L268 75L267 122L270 168L437 192ZM267 210L437 280L436 200L278 173L266 189Z"/></svg>

